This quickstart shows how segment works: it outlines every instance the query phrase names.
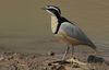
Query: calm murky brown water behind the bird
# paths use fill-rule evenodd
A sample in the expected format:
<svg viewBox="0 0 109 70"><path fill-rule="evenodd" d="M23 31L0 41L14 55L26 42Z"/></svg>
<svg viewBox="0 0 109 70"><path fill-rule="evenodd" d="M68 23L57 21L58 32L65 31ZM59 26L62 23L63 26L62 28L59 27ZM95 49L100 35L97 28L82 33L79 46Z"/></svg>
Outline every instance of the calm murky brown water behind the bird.
<svg viewBox="0 0 109 70"><path fill-rule="evenodd" d="M50 16L40 8L53 4L62 15L75 22L108 56L109 50L108 0L8 0L0 1L0 50L19 52L63 52L65 44L52 43ZM76 51L84 51L77 47Z"/></svg>

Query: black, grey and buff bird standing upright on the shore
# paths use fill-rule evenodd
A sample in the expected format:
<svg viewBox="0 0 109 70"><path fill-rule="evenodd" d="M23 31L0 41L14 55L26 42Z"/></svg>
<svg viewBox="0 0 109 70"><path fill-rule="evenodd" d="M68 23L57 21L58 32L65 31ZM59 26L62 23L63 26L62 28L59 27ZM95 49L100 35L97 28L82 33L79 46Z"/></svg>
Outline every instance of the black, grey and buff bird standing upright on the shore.
<svg viewBox="0 0 109 70"><path fill-rule="evenodd" d="M62 16L61 10L58 7L46 5L43 10L48 12L51 16L51 31L55 37L68 46L62 60L65 60L70 46L72 46L72 55L74 47L77 45L86 45L96 51L96 45L75 23Z"/></svg>

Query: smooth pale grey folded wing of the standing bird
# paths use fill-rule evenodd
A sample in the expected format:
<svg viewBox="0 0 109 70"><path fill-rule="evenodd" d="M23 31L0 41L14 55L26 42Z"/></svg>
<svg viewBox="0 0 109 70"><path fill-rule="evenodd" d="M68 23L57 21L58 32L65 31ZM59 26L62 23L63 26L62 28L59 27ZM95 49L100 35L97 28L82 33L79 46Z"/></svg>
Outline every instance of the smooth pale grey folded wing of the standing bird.
<svg viewBox="0 0 109 70"><path fill-rule="evenodd" d="M76 25L64 22L61 24L60 30L63 30L70 37L76 38L83 44L90 46L93 49L96 49L96 46L92 43L92 40Z"/></svg>

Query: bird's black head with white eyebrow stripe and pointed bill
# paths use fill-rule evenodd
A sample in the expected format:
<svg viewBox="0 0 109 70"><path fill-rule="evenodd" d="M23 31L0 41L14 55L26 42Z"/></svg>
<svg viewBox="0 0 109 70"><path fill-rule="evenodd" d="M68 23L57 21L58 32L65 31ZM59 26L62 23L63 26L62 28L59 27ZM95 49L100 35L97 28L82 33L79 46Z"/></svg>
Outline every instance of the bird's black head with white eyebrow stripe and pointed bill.
<svg viewBox="0 0 109 70"><path fill-rule="evenodd" d="M50 13L51 15L61 15L61 11L58 7L55 5L47 5L45 8L43 8L44 10L46 10L48 13Z"/></svg>

